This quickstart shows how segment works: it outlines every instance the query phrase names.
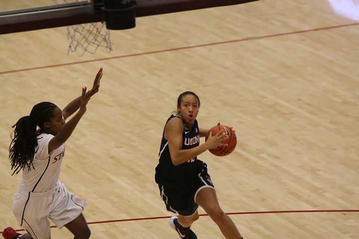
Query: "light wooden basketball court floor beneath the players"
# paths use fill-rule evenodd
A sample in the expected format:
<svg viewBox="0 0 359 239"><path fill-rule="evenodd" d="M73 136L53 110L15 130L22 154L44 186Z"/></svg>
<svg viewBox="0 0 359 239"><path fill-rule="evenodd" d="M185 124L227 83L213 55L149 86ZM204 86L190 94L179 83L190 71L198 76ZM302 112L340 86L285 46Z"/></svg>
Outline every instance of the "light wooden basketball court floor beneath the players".
<svg viewBox="0 0 359 239"><path fill-rule="evenodd" d="M67 55L65 27L0 35L0 231L20 229L11 125L41 101L63 108L103 67L60 175L87 200L92 238L177 238L168 219L98 222L171 215L154 168L165 120L192 90L201 127L237 131L232 154L199 157L223 210L272 212L231 215L245 239L358 239L358 211L310 212L359 210L358 23L326 0L260 0L138 18L111 39L111 53L78 57ZM306 212L273 212L297 210ZM193 231L223 238L207 216ZM52 238L71 235L53 229Z"/></svg>

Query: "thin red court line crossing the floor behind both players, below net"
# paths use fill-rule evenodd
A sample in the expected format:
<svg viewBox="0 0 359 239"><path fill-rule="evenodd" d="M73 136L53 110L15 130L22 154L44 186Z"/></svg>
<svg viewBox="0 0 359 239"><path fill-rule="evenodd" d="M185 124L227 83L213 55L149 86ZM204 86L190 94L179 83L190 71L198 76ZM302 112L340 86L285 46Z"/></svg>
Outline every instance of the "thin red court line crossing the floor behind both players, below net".
<svg viewBox="0 0 359 239"><path fill-rule="evenodd" d="M17 69L17 70L11 70L11 71L3 71L3 72L0 72L0 75L8 74L8 73L15 73L15 72L22 72L22 71L38 70L38 69L44 69L44 68L52 68L52 67L59 67L59 66L68 66L68 65L96 62L96 61L106 61L106 60L133 57L133 56L150 55L150 54L156 54L156 53L162 53L162 52L178 51L178 50L185 50L185 49L198 48L198 47L204 47L204 46L227 44L227 43L233 43L233 42L241 42L241 41L249 41L249 40L271 38L271 37L277 37L277 36L293 35L293 34L314 32L314 31L322 31L322 30L329 30L329 29L348 27L348 26L355 26L355 25L359 25L359 22L354 22L354 23L349 23L349 24L342 24L342 25L335 25L335 26L319 27L319 28L313 28L313 29L308 29L308 30L283 32L283 33L264 35L264 36L247 37L247 38L241 38L241 39L229 40L229 41L212 42L212 43L199 44L199 45L193 45L193 46L170 48L170 49L164 49L164 50L158 50L158 51L148 51L148 52L141 52L141 53L133 53L133 54L128 54L128 55L105 57L105 58L86 60L86 61L76 61L76 62L55 64L55 65L47 65L47 66L31 67L31 68Z"/></svg>

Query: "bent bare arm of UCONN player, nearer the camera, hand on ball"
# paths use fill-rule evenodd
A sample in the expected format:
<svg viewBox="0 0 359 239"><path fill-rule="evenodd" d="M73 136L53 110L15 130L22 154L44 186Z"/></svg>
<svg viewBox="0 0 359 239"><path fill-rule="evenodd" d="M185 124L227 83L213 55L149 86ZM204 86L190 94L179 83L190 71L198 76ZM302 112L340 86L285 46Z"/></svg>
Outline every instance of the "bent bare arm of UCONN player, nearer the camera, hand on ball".
<svg viewBox="0 0 359 239"><path fill-rule="evenodd" d="M217 146L225 145L222 143L223 133L220 131L212 137L209 133L208 139L205 143L202 143L194 148L181 149L182 147L182 133L183 122L179 118L171 119L165 129L165 138L169 143L169 149L171 154L172 163L179 165L195 156L203 153L207 149L215 148Z"/></svg>

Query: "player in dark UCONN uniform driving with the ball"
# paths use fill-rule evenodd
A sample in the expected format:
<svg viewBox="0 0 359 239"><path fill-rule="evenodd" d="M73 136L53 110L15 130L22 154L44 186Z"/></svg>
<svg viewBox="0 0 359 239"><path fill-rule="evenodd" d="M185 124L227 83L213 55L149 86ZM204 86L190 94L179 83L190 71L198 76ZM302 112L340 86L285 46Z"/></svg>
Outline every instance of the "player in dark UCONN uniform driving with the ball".
<svg viewBox="0 0 359 239"><path fill-rule="evenodd" d="M170 225L180 238L197 238L190 226L199 218L199 205L226 239L242 239L237 227L219 206L207 164L197 159L197 155L205 150L225 145L222 130L216 135L209 132L207 141L199 144L199 137L206 136L209 131L198 127L199 105L195 93L179 95L177 112L165 125L155 179L167 210L178 214L178 217L171 217Z"/></svg>

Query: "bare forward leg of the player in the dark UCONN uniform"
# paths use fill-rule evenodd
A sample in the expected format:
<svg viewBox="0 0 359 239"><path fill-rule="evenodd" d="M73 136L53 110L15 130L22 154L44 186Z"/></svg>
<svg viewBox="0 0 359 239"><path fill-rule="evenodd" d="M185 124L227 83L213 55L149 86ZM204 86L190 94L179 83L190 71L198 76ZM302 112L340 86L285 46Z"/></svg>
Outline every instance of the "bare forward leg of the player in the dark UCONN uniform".
<svg viewBox="0 0 359 239"><path fill-rule="evenodd" d="M204 187L196 194L196 203L201 206L210 218L217 224L226 239L242 239L233 221L226 215L217 200L213 188Z"/></svg>

